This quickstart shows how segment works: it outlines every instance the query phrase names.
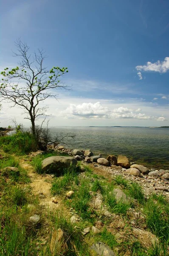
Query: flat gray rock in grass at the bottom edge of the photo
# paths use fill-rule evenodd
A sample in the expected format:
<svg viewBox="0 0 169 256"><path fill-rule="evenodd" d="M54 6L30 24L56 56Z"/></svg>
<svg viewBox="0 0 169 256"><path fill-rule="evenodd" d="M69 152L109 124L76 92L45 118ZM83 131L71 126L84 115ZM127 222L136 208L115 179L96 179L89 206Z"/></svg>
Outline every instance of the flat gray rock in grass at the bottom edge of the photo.
<svg viewBox="0 0 169 256"><path fill-rule="evenodd" d="M106 244L103 244L102 242L93 244L91 249L98 253L100 256L115 256L113 250L111 250L110 247L108 247Z"/></svg>

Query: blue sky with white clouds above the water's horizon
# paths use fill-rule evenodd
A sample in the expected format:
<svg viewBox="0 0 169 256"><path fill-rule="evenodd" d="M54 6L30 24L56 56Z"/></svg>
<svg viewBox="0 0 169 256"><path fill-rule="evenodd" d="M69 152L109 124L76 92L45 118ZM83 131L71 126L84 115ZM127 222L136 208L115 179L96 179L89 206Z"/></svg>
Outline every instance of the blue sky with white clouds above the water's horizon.
<svg viewBox="0 0 169 256"><path fill-rule="evenodd" d="M43 103L50 126L169 126L168 0L1 0L1 71L18 38L68 67L71 90ZM22 113L2 102L0 126L30 125Z"/></svg>

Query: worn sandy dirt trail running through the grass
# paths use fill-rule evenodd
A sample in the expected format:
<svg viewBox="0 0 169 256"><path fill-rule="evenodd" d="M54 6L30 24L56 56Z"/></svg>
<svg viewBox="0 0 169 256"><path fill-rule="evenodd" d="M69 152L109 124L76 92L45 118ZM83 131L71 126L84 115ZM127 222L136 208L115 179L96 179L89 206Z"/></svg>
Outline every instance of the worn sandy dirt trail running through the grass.
<svg viewBox="0 0 169 256"><path fill-rule="evenodd" d="M31 186L32 193L39 197L39 204L50 211L60 208L62 203L59 198L57 198L57 204L52 202L53 196L51 195L51 175L43 176L37 174L34 172L33 166L31 166L29 163L22 162L22 160L20 160L20 166L22 166L28 172L28 177L31 179L31 183L29 185Z"/></svg>

